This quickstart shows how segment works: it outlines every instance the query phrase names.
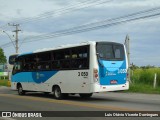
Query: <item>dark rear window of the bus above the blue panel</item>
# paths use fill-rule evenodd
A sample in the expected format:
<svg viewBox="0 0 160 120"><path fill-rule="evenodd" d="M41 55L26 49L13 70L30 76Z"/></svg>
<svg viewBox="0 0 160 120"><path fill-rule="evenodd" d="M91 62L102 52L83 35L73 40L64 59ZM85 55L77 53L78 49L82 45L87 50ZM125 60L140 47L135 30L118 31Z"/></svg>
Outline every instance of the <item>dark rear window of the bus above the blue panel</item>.
<svg viewBox="0 0 160 120"><path fill-rule="evenodd" d="M122 44L99 42L97 43L97 53L99 59L124 60L124 47Z"/></svg>

